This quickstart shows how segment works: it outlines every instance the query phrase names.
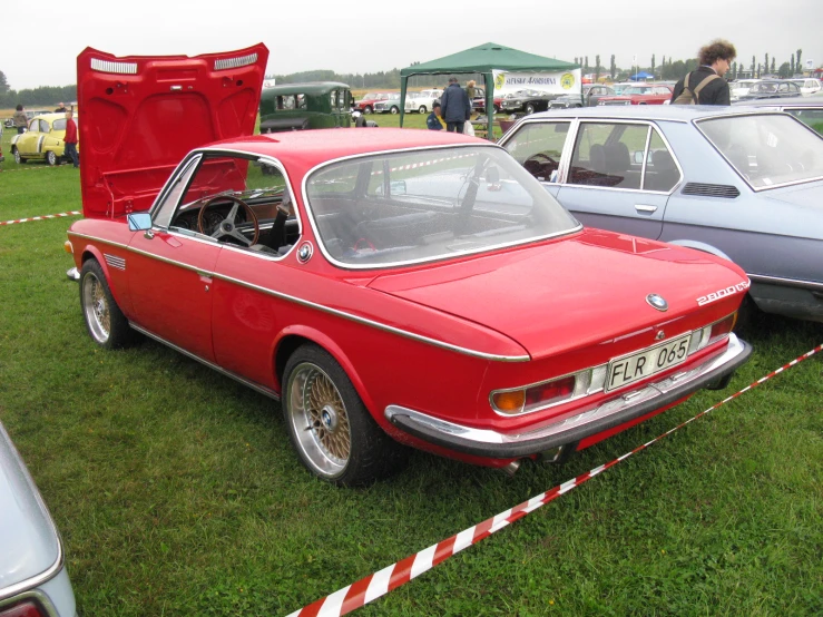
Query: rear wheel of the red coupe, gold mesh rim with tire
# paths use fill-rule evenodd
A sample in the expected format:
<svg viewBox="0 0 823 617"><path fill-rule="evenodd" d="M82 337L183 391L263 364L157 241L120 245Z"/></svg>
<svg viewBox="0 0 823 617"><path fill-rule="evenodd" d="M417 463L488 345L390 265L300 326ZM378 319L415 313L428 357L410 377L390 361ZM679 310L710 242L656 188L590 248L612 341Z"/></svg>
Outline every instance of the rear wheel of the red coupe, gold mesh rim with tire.
<svg viewBox="0 0 823 617"><path fill-rule="evenodd" d="M408 449L374 422L342 366L306 343L283 373L283 417L301 462L336 486L369 484L393 473Z"/></svg>

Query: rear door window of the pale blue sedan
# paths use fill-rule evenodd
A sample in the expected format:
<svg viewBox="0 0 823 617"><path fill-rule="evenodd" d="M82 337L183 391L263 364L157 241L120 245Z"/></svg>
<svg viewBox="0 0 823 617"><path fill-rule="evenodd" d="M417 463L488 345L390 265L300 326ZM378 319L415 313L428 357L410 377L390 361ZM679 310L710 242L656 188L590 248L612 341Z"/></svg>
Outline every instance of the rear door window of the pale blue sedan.
<svg viewBox="0 0 823 617"><path fill-rule="evenodd" d="M584 123L571 157L569 184L640 188L643 151L648 127ZM639 150L639 160L636 155Z"/></svg>

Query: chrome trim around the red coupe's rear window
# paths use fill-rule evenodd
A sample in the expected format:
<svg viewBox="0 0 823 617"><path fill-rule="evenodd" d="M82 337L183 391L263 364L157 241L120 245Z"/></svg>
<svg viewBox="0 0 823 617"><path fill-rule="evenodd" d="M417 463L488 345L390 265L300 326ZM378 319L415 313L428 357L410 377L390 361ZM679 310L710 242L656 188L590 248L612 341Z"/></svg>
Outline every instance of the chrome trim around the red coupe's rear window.
<svg viewBox="0 0 823 617"><path fill-rule="evenodd" d="M306 208L306 217L308 218L308 224L312 226L312 232L314 233L314 237L317 242L317 246L320 247L321 253L323 253L323 256L326 258L326 261L341 268L341 270L351 270L351 271L359 271L359 270L389 270L389 268L398 268L398 267L404 267L408 265L415 265L415 264L424 264L424 263L437 263L437 262L444 262L448 259L453 258L462 258L468 255L480 255L483 253L490 253L492 251L498 251L500 248L508 248L511 246L527 246L529 244L543 242L550 238L559 237L569 235L576 232L579 232L582 229L582 224L578 223L576 226L569 227L568 229L564 229L562 232L557 232L555 234L548 234L546 236L539 236L533 237L526 242L509 242L503 244L494 244L490 246L484 246L482 248L476 249L476 251L466 251L466 252L459 252L453 253L450 255L442 255L439 257L424 257L420 259L405 259L402 262L390 262L388 264L347 264L344 262L339 262L334 257L332 257L329 252L326 251L325 244L323 243L323 237L321 236L317 225L314 221L314 213L312 210L312 206L308 202L308 193L307 193L307 185L308 185L308 178L323 167L326 167L329 165L333 165L336 163L341 163L344 160L352 160L356 158L369 158L373 156L379 155L391 155L391 154L403 154L403 153L413 153L413 151L421 151L421 150L442 150L442 149L453 149L453 148L496 148L500 149L506 153L507 156L511 156L504 148L498 146L497 144L444 144L442 146L415 146L412 148L399 148L399 149L392 149L392 150L376 150L376 151L369 151L369 153L361 153L355 155L347 155L340 158L335 158L332 160L326 160L323 163L320 163L312 167L308 172L305 173L303 176L303 204ZM518 164L519 165L519 164ZM552 197L553 198L553 197ZM559 204L559 202L558 202ZM572 221L575 221L574 216L571 217Z"/></svg>

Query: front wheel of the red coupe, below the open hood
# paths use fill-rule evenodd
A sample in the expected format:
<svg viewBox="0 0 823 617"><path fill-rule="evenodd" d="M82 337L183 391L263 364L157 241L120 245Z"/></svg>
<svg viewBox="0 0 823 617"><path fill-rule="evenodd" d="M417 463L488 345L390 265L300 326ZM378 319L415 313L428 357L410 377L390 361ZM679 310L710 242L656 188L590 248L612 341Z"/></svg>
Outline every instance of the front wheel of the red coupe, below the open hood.
<svg viewBox="0 0 823 617"><path fill-rule="evenodd" d="M101 347L116 350L131 342L133 330L96 259L87 259L80 270L80 308L89 336Z"/></svg>

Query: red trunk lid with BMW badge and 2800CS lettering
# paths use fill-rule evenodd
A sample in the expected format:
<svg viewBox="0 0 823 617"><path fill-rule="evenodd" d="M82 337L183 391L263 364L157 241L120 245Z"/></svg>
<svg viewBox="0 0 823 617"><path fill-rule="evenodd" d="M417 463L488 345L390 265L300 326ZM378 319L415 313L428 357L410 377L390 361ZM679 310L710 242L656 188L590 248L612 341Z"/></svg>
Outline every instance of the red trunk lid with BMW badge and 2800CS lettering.
<svg viewBox="0 0 823 617"><path fill-rule="evenodd" d="M586 229L539 246L384 274L369 286L492 329L540 359L628 333L654 334L662 324L670 334L707 325L737 308L747 283L739 267L708 254ZM700 307L699 298L734 286ZM663 296L668 310L654 308L649 294Z"/></svg>

